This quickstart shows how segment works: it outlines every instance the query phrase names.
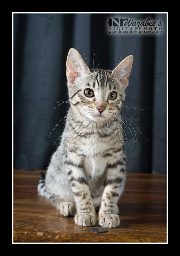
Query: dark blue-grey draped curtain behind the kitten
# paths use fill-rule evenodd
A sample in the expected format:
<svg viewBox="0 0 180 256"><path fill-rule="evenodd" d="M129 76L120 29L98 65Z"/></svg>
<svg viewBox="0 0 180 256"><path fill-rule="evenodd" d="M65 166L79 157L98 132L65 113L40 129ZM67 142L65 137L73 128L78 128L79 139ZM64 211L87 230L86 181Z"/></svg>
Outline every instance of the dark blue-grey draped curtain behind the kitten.
<svg viewBox="0 0 180 256"><path fill-rule="evenodd" d="M128 24L128 34L109 32L111 18L127 17L156 21L158 33L140 33L143 24L139 33L130 33ZM90 68L94 62L114 69L120 58L134 56L121 112L127 171L166 173L166 13L14 13L13 24L14 168L48 166L69 106L59 104L68 99L66 57L73 47Z"/></svg>

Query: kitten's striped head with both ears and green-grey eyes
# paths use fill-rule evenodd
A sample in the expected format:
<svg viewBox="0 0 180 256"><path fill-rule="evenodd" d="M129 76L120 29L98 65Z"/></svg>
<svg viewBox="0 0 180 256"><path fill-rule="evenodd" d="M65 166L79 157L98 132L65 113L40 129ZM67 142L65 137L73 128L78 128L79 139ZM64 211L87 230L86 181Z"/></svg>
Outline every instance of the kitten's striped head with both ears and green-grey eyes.
<svg viewBox="0 0 180 256"><path fill-rule="evenodd" d="M71 107L95 122L113 118L125 99L125 88L131 72L133 56L110 70L89 69L73 48L66 62L67 86Z"/></svg>

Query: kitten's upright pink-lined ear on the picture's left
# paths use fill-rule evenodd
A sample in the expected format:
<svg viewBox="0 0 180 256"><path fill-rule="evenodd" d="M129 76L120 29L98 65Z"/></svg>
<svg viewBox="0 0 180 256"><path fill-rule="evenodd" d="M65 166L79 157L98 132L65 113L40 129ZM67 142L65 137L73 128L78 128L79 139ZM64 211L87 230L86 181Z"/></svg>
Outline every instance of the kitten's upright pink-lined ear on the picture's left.
<svg viewBox="0 0 180 256"><path fill-rule="evenodd" d="M87 74L89 68L84 63L81 55L76 49L71 48L66 61L66 76L70 83L73 83L76 77Z"/></svg>

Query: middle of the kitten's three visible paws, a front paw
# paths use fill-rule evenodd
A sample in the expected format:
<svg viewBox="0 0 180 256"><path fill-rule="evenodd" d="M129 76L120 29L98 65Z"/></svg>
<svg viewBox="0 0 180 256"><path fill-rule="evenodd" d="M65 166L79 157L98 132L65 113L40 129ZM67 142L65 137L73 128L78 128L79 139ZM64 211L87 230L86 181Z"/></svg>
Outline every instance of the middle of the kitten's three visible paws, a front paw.
<svg viewBox="0 0 180 256"><path fill-rule="evenodd" d="M96 224L96 214L79 213L75 215L74 221L79 226L91 227Z"/></svg>

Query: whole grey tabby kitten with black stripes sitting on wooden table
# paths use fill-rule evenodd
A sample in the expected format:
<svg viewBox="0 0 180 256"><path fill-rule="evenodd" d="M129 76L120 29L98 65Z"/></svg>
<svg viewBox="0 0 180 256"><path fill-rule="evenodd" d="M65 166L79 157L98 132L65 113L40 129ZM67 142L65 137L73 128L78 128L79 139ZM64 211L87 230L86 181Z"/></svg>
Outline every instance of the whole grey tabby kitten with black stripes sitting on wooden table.
<svg viewBox="0 0 180 256"><path fill-rule="evenodd" d="M126 156L119 111L133 56L113 70L89 69L70 49L66 62L70 108L60 145L38 191L80 226L120 224L118 198L125 185Z"/></svg>

